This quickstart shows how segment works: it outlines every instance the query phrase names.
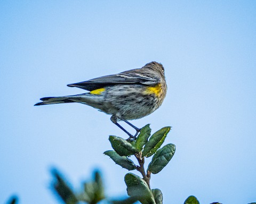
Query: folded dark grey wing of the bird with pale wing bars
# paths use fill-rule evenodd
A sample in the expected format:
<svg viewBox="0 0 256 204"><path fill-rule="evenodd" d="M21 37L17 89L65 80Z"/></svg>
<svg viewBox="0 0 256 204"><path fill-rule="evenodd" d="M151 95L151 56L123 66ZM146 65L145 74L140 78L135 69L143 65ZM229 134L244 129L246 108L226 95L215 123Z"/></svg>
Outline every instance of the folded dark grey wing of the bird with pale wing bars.
<svg viewBox="0 0 256 204"><path fill-rule="evenodd" d="M78 87L88 91L99 89L106 86L114 86L116 84L157 84L159 79L152 76L152 73L145 71L141 72L141 69L129 70L121 72L119 74L107 75L91 79L88 81L68 84L69 87Z"/></svg>

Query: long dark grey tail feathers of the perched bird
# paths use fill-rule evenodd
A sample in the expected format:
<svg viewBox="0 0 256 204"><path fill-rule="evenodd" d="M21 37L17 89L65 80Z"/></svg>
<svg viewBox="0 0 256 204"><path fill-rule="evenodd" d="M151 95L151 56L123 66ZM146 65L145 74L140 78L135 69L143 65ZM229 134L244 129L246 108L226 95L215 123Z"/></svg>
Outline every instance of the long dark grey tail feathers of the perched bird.
<svg viewBox="0 0 256 204"><path fill-rule="evenodd" d="M60 96L60 97L44 97L41 98L42 102L35 104L35 106L47 105L47 104L62 104L62 103L73 103L79 102L79 98L82 95L73 95L73 96Z"/></svg>

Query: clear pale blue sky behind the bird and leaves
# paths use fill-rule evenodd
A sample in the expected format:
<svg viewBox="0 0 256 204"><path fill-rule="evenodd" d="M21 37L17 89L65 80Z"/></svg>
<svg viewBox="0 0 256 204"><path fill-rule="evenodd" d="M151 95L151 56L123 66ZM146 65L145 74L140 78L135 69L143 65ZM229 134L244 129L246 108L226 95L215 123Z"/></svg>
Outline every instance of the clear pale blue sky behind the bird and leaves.
<svg viewBox="0 0 256 204"><path fill-rule="evenodd" d="M165 67L167 96L132 123L172 126L165 144L177 146L151 187L164 203L255 202L255 11L256 1L1 1L0 203L57 203L53 166L75 189L100 168L107 194L125 195L127 170L102 154L110 134L127 137L110 116L34 104L151 61Z"/></svg>

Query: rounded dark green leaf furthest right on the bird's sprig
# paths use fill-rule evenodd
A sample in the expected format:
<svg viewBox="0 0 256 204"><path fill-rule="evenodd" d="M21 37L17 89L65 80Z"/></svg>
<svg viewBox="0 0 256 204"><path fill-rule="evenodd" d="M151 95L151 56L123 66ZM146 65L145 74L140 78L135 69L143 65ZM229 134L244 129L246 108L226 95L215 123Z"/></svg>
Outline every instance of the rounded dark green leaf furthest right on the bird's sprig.
<svg viewBox="0 0 256 204"><path fill-rule="evenodd" d="M160 172L171 160L175 152L175 145L167 144L158 149L148 165L148 171L153 174Z"/></svg>

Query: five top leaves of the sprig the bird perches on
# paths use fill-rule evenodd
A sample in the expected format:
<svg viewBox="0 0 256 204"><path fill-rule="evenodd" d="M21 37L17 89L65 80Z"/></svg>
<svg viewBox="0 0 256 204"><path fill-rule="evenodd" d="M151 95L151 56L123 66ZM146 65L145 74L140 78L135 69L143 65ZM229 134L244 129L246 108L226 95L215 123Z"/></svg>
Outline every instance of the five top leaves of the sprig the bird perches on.
<svg viewBox="0 0 256 204"><path fill-rule="evenodd" d="M134 162L128 158L129 156L139 154L140 152L142 158L154 155L148 166L148 171L157 174L170 162L175 152L175 145L173 144L160 148L170 130L171 127L162 128L150 137L151 129L148 124L141 129L135 142L110 135L109 141L114 150L105 151L104 154L114 160L116 164L129 171L137 168Z"/></svg>

